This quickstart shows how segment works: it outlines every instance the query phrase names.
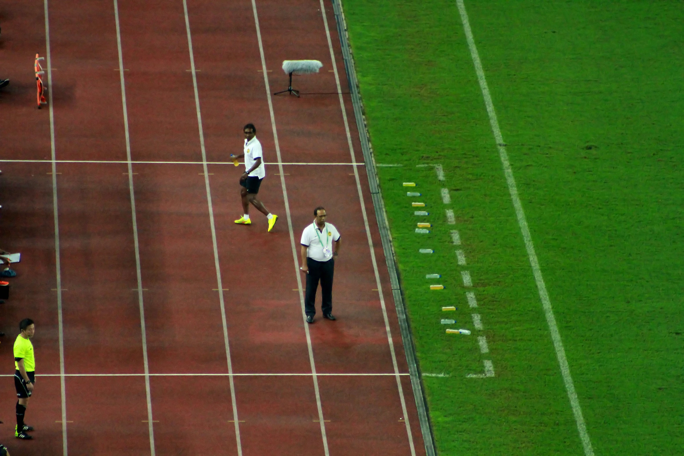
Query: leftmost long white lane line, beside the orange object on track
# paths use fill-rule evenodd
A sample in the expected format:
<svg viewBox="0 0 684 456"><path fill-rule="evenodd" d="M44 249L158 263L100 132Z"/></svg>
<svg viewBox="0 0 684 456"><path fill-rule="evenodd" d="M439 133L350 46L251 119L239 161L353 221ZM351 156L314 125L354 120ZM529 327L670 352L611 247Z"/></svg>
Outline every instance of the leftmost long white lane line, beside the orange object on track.
<svg viewBox="0 0 684 456"><path fill-rule="evenodd" d="M60 338L60 393L62 395L62 454L68 455L66 440L66 383L64 381L64 324L62 321L62 265L60 259L60 216L57 204L57 152L55 151L55 111L52 104L52 59L50 54L50 20L47 0L45 14L45 64L47 65L47 96L50 110L50 152L52 163L52 208L55 223L55 280L57 282L57 327Z"/></svg>

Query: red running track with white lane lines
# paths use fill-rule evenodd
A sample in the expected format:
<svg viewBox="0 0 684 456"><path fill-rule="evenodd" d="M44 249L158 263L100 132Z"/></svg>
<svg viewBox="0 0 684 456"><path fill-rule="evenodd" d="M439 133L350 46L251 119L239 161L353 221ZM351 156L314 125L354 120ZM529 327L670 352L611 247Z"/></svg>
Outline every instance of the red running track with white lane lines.
<svg viewBox="0 0 684 456"><path fill-rule="evenodd" d="M323 62L318 75L295 78L302 98L267 94L251 0L188 0L187 16L182 0L47 4L54 135L51 110L32 104L32 58L47 53L44 3L0 10L1 76L12 79L0 94L12 122L0 152L0 227L2 247L23 254L0 325L8 333L0 442L22 455L423 455L321 3L254 3L271 92L287 87L282 60ZM361 163L352 103L343 100ZM271 233L256 211L252 226L233 224L239 170L224 162L239 152L246 122L257 125L267 163L278 161L276 137L282 163L297 163L282 165L282 176L267 165L260 196L281 217ZM344 239L338 320L306 325L293 246L319 204ZM20 442L10 352L26 316L36 320L38 364L27 422L38 430Z"/></svg>

